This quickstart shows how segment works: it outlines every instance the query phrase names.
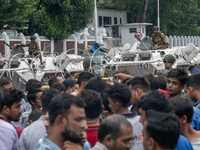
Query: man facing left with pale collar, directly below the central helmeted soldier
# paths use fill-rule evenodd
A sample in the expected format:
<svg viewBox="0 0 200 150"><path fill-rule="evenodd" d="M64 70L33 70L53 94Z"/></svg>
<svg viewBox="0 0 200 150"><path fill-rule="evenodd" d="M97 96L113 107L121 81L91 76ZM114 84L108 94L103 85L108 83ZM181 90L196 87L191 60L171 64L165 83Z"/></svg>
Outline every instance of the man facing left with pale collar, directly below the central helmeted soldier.
<svg viewBox="0 0 200 150"><path fill-rule="evenodd" d="M71 94L74 96L81 94L81 92L85 90L86 83L93 77L95 77L95 75L90 72L86 71L81 72L78 76L78 81L77 81L79 88L77 89L77 91Z"/></svg>

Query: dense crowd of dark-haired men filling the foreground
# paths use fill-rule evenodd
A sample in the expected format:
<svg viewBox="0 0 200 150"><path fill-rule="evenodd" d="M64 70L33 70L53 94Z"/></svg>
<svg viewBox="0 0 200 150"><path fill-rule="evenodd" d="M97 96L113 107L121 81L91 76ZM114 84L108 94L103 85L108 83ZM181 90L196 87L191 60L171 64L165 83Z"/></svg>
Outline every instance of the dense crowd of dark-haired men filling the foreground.
<svg viewBox="0 0 200 150"><path fill-rule="evenodd" d="M83 71L77 81L36 79L26 93L0 79L1 150L200 150L200 73L114 74L106 83Z"/></svg>

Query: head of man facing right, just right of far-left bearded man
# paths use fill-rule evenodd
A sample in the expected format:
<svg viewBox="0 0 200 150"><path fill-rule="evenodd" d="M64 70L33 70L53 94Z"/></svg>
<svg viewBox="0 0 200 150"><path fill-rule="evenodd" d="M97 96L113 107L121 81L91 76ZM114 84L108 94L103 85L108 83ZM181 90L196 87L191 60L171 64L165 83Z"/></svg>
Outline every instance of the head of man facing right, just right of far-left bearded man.
<svg viewBox="0 0 200 150"><path fill-rule="evenodd" d="M32 89L27 94L28 102L32 105L33 109L40 109L42 107L41 102L41 89Z"/></svg>

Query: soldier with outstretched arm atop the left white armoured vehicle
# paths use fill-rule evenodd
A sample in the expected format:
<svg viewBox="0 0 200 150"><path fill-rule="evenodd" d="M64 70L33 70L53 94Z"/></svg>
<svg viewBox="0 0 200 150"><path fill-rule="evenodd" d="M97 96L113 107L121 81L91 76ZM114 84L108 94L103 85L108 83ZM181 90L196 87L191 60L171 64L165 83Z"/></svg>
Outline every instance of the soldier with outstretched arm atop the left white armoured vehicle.
<svg viewBox="0 0 200 150"><path fill-rule="evenodd" d="M35 41L35 39L36 39L35 36L31 36L30 38L31 42L28 42L26 44L17 44L17 45L14 45L14 47L18 47L18 46L28 47L28 52L29 52L28 57L37 56L40 54L40 47L39 47L38 42Z"/></svg>

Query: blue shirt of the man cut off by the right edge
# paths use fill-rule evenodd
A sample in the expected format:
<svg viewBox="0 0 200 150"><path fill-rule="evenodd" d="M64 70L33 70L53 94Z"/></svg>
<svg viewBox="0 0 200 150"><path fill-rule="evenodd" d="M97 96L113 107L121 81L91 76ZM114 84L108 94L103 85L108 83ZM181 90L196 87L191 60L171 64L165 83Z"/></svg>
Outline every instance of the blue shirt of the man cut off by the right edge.
<svg viewBox="0 0 200 150"><path fill-rule="evenodd" d="M193 120L192 120L192 128L200 131L200 109L197 107L194 107L194 114L193 114Z"/></svg>

